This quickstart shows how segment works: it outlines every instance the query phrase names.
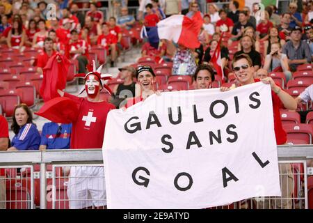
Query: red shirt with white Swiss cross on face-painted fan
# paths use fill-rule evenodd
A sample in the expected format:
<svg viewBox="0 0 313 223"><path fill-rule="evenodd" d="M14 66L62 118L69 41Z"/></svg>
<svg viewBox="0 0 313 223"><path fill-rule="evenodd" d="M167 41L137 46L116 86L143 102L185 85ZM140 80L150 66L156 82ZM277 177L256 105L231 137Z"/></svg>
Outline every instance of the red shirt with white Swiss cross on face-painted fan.
<svg viewBox="0 0 313 223"><path fill-rule="evenodd" d="M106 116L114 105L108 102L89 102L86 98L64 94L77 103L79 114L72 123L70 148L102 148Z"/></svg>

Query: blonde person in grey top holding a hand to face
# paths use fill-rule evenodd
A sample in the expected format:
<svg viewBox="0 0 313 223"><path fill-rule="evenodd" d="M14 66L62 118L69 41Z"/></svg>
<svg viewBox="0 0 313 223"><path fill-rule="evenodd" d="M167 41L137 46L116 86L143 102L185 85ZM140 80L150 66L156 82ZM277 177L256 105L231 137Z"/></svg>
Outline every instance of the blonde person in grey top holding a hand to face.
<svg viewBox="0 0 313 223"><path fill-rule="evenodd" d="M282 71L286 76L287 82L291 79L291 72L289 71L288 58L286 54L282 54L282 46L280 43L272 43L271 52L266 55L264 61L264 69L268 72ZM278 70L279 69L279 70Z"/></svg>

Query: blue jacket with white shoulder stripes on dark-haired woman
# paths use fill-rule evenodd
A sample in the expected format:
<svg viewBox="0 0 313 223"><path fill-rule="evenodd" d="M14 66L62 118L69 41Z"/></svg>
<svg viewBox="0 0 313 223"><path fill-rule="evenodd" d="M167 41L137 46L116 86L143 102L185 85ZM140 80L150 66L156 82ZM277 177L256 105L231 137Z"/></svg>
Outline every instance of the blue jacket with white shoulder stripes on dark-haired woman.
<svg viewBox="0 0 313 223"><path fill-rule="evenodd" d="M19 133L15 134L12 139L11 146L19 151L38 150L40 144L40 134L36 126L27 123L19 129Z"/></svg>

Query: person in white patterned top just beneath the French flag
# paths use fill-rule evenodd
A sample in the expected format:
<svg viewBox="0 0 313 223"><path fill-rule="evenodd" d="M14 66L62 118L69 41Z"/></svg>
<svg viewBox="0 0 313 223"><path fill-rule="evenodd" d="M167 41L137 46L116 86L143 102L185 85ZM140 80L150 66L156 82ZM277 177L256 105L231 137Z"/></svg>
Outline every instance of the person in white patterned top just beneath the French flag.
<svg viewBox="0 0 313 223"><path fill-rule="evenodd" d="M184 45L178 45L172 61L172 75L193 75L197 68L191 49Z"/></svg>

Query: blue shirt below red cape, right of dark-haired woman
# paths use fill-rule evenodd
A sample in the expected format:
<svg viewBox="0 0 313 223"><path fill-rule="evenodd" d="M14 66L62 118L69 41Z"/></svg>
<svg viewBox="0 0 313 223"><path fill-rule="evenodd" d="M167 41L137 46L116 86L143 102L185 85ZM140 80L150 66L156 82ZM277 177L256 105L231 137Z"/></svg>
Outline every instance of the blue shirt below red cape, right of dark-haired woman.
<svg viewBox="0 0 313 223"><path fill-rule="evenodd" d="M72 124L61 124L61 132L58 133L57 123L45 123L42 127L40 145L47 146L47 149L70 148Z"/></svg>

